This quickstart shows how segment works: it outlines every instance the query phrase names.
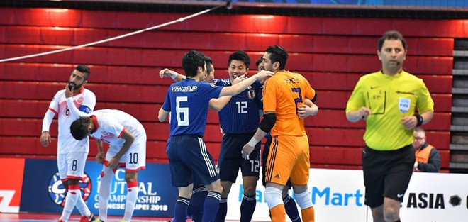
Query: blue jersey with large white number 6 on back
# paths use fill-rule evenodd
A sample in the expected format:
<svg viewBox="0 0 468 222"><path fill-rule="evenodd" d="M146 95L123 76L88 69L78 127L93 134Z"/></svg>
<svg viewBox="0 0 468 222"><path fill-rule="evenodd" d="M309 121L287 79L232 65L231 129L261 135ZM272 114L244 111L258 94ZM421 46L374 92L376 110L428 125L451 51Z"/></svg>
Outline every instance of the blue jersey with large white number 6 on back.
<svg viewBox="0 0 468 222"><path fill-rule="evenodd" d="M170 112L170 136L200 135L203 137L208 116L208 102L218 98L223 87L194 79L171 84L162 109Z"/></svg>

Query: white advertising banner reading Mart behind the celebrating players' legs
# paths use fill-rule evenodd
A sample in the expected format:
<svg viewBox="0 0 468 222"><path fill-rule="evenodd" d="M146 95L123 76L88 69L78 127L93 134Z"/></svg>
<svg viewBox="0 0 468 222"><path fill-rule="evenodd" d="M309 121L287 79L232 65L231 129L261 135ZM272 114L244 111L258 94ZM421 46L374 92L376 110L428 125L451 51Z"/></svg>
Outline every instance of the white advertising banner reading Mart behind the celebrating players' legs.
<svg viewBox="0 0 468 222"><path fill-rule="evenodd" d="M242 176L239 173L236 183L230 189L227 220L240 218L242 187ZM308 188L311 190L316 221L366 221L362 171L311 169ZM294 197L292 193L290 190L289 195ZM252 221L271 221L261 180L257 182L257 206ZM286 216L286 221L291 220Z"/></svg>

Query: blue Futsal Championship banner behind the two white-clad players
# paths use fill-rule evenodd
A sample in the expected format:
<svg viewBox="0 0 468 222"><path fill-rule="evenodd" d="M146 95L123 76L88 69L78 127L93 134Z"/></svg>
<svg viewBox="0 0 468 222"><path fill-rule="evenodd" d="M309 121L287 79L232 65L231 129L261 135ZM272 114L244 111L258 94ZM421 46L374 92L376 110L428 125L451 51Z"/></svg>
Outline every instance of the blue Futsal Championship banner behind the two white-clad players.
<svg viewBox="0 0 468 222"><path fill-rule="evenodd" d="M85 176L80 184L84 201L89 209L99 212L99 186L102 165L88 161ZM169 165L147 164L138 172L138 199L133 216L172 217L177 201L177 189L171 186ZM65 204L65 187L57 172L56 160L26 160L24 174L22 212L61 213ZM108 215L123 215L127 187L125 170L119 168L114 174ZM30 201L33 198L35 201ZM74 213L78 213L74 209Z"/></svg>

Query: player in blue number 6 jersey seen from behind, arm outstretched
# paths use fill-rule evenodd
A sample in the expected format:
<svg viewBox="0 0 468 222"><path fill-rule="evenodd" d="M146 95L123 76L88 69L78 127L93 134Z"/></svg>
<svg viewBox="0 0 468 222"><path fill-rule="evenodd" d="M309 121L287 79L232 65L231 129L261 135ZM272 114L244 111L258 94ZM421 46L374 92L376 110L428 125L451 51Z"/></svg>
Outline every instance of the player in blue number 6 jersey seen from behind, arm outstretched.
<svg viewBox="0 0 468 222"><path fill-rule="evenodd" d="M202 221L213 221L219 207L223 188L214 167L213 157L206 150L203 135L208 115L208 102L220 96L233 96L244 91L257 79L271 77L262 71L233 87L216 87L201 82L206 75L204 55L191 50L182 57L186 79L172 84L159 111L159 120L165 121L169 112L170 137L169 167L172 185L178 187L179 198L174 209L175 221L185 221L194 178L206 185L208 195L204 202Z"/></svg>

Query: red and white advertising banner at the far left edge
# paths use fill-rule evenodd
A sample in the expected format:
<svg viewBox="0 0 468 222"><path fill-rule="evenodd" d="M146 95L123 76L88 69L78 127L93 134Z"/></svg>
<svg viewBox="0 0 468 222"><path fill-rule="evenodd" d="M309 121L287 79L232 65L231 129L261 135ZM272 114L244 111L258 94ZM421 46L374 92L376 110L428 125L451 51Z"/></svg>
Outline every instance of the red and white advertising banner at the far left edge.
<svg viewBox="0 0 468 222"><path fill-rule="evenodd" d="M18 213L24 159L0 158L0 213Z"/></svg>

